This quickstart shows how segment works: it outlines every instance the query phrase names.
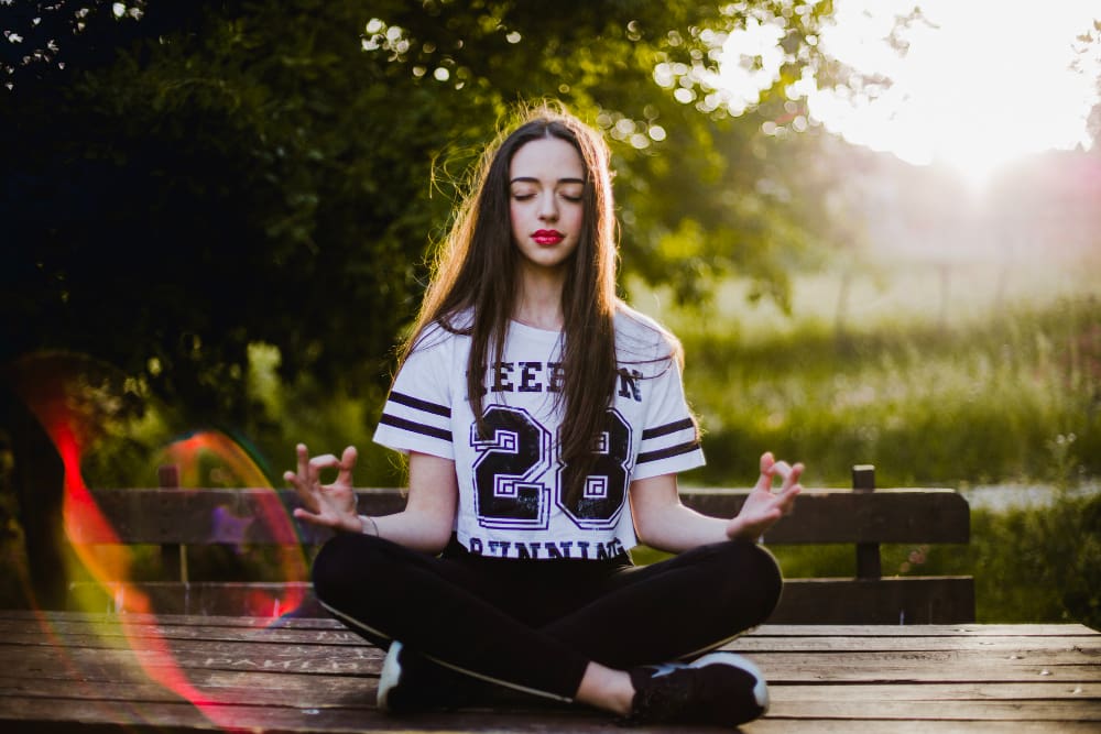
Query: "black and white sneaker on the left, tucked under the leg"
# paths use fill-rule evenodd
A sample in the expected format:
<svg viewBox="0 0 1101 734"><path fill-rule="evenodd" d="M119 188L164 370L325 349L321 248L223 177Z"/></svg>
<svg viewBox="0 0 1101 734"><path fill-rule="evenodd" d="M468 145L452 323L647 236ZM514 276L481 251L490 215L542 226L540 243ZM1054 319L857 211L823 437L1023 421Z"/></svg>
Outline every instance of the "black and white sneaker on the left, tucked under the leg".
<svg viewBox="0 0 1101 734"><path fill-rule="evenodd" d="M402 714L458 709L466 698L461 679L395 639L379 673L379 710Z"/></svg>

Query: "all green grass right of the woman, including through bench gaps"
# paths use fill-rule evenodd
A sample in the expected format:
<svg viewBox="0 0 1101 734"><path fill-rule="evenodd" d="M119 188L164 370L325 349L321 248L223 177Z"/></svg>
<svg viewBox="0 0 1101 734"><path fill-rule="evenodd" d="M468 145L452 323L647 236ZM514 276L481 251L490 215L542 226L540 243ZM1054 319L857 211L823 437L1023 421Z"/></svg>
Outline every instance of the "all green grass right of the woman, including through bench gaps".
<svg viewBox="0 0 1101 734"><path fill-rule="evenodd" d="M1028 483L1047 497L977 506L968 546L885 546L886 574L973 574L981 622L1101 628L1101 278L1098 269L931 264L800 276L792 308L730 283L705 315L637 291L680 336L708 465L685 478L746 486L771 449L805 483L847 486L854 463L881 486L964 492ZM1039 487L1039 489L1036 489ZM851 547L775 549L788 577L852 576Z"/></svg>

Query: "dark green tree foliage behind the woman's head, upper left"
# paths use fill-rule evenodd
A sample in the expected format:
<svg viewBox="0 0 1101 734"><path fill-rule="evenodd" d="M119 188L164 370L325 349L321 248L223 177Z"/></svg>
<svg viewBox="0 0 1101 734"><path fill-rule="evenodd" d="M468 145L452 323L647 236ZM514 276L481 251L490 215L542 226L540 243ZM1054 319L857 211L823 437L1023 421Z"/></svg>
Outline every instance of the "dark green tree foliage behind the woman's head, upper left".
<svg viewBox="0 0 1101 734"><path fill-rule="evenodd" d="M87 353L208 418L248 410L250 342L287 376L378 379L464 172L520 100L607 130L626 272L687 298L741 267L782 295L805 244L760 185L761 122L820 64L828 3L29 6L0 112L19 315L0 360ZM787 61L735 118L717 50L750 19L785 29Z"/></svg>

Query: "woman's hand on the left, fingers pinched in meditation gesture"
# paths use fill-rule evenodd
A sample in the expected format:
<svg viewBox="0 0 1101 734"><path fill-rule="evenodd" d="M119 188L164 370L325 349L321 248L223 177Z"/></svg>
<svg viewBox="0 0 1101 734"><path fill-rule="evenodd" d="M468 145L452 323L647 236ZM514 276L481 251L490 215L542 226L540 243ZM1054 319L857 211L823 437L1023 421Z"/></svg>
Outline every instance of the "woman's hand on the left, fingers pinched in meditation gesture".
<svg viewBox="0 0 1101 734"><path fill-rule="evenodd" d="M356 447L346 448L339 459L331 453L310 459L304 443L298 443L296 450L297 473L283 474L302 500L303 506L295 508L294 516L336 530L362 533L363 523L356 514L356 492L351 482L358 457ZM337 470L337 479L331 484L321 484L321 471L326 469Z"/></svg>

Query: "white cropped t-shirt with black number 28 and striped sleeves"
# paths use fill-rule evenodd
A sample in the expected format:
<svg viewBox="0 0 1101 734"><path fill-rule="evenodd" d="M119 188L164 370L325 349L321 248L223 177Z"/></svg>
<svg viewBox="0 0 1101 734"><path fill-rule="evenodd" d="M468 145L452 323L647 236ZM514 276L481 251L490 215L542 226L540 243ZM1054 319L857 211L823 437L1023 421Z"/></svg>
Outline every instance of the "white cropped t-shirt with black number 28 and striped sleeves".
<svg viewBox="0 0 1101 734"><path fill-rule="evenodd" d="M457 319L461 322L461 319ZM702 465L680 370L657 325L615 316L619 382L599 459L580 500L564 501L558 456L562 335L512 321L504 358L486 371L480 439L467 399L470 338L425 329L405 361L374 432L378 443L451 459L458 475L455 532L470 552L499 558L601 559L635 544L632 480Z"/></svg>

